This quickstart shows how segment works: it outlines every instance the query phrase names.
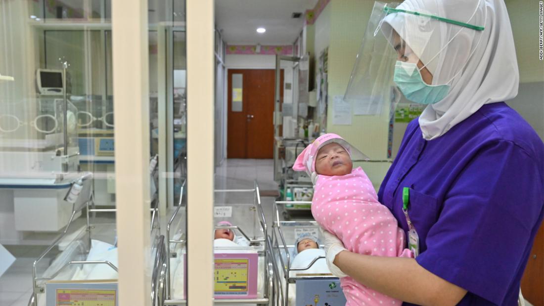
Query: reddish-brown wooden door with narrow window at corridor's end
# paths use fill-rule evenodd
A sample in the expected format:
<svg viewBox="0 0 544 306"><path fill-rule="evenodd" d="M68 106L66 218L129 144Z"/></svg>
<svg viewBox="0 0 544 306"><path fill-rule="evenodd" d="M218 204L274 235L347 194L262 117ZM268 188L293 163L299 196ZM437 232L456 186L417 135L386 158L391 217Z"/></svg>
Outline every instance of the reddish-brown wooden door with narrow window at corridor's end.
<svg viewBox="0 0 544 306"><path fill-rule="evenodd" d="M273 69L228 70L227 158L273 158L274 92Z"/></svg>

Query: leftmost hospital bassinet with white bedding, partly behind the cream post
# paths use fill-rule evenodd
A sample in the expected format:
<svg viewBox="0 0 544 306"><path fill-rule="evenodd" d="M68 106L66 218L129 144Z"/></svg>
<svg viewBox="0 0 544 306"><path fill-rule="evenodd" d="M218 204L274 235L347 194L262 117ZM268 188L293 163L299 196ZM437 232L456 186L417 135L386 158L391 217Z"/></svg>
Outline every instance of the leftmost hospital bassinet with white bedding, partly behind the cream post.
<svg viewBox="0 0 544 306"><path fill-rule="evenodd" d="M151 182L156 183L156 163L150 170ZM160 234L157 192L152 194L150 299L152 305L160 306L166 290L167 256L164 235ZM75 216L84 208L86 225L74 232ZM70 292L79 298L104 299L118 304L116 225L112 218L98 218L97 213L116 213L116 209L96 209L92 192L88 201L72 205L72 215L64 232L33 263L33 293L29 306L57 305L59 299L69 299ZM61 252L55 256L57 249Z"/></svg>

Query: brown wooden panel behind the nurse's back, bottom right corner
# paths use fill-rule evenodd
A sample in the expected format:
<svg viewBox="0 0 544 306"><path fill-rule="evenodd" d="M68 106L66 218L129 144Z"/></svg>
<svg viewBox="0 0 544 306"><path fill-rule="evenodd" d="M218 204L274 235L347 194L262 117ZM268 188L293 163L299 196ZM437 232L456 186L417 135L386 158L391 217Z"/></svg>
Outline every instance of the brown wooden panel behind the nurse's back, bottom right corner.
<svg viewBox="0 0 544 306"><path fill-rule="evenodd" d="M521 292L534 306L544 306L544 224L536 233L533 249L521 279Z"/></svg>

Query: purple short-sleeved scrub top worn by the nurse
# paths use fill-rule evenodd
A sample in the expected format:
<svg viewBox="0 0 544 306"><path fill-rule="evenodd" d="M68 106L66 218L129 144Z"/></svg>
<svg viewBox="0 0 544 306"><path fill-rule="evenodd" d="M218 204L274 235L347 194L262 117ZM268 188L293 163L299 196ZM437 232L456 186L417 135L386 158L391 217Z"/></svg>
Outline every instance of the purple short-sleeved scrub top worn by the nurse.
<svg viewBox="0 0 544 306"><path fill-rule="evenodd" d="M378 192L407 232L404 187L419 265L468 291L458 305L517 305L544 214L544 144L529 124L504 102L430 141L413 120Z"/></svg>

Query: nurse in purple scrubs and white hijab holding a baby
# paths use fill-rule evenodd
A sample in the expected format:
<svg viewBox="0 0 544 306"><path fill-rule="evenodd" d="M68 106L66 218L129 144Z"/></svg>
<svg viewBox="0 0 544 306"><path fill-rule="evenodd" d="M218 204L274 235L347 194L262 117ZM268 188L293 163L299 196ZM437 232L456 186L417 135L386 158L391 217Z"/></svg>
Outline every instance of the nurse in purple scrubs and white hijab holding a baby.
<svg viewBox="0 0 544 306"><path fill-rule="evenodd" d="M503 102L519 82L504 1L406 0L378 13L394 82L427 104L378 193L419 255L351 253L325 232L329 267L405 305L516 305L544 213L544 144Z"/></svg>

